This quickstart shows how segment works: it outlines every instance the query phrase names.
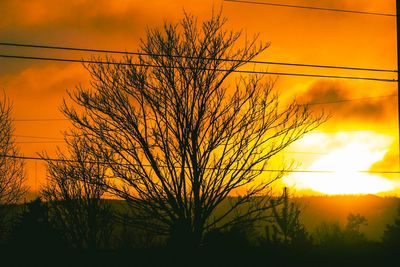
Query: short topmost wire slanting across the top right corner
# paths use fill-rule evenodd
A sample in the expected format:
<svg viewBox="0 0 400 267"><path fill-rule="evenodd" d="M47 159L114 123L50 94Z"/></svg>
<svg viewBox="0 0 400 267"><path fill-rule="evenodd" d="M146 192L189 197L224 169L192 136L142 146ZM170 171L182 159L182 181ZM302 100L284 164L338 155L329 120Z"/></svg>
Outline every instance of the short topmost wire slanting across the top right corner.
<svg viewBox="0 0 400 267"><path fill-rule="evenodd" d="M360 11L360 10L348 10L348 9L316 7L316 6L300 6L300 5L277 4L277 3L271 3L271 2L257 2L257 1L245 1L245 0L223 0L223 1L224 2L232 2L232 3L240 3L240 4L254 4L254 5L312 9L312 10L343 12L343 13L353 13L353 14L363 14L363 15L373 15L373 16L396 17L396 14L391 14L391 13L368 12L368 11Z"/></svg>

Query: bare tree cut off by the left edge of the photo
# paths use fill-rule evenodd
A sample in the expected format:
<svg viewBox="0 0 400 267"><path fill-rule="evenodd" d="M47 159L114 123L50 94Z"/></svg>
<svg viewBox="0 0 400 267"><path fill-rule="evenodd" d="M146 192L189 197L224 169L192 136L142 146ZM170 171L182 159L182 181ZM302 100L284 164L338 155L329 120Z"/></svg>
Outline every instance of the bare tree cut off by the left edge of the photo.
<svg viewBox="0 0 400 267"><path fill-rule="evenodd" d="M13 137L12 106L0 100L0 240L4 236L10 205L17 203L26 191L24 162Z"/></svg>

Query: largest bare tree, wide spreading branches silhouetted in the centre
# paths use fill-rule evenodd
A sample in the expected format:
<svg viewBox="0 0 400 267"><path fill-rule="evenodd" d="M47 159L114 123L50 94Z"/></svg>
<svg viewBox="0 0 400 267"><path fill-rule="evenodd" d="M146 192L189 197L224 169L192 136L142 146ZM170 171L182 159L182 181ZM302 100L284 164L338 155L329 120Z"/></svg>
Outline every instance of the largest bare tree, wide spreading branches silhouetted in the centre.
<svg viewBox="0 0 400 267"><path fill-rule="evenodd" d="M295 102L280 105L261 76L235 76L268 44L241 42L224 23L213 15L198 27L186 14L179 24L148 30L137 59L86 65L92 88L70 93L83 112L63 106L108 163L109 190L132 206L134 224L188 247L240 220L231 215L244 204L243 217L263 216L284 170L260 177L262 169L325 119ZM232 194L232 205L216 214Z"/></svg>

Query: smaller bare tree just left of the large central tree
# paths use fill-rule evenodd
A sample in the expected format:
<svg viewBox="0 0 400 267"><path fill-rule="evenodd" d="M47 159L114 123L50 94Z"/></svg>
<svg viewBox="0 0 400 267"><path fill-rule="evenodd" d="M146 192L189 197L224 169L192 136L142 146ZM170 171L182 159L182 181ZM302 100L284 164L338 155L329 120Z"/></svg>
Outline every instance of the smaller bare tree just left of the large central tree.
<svg viewBox="0 0 400 267"><path fill-rule="evenodd" d="M48 184L42 195L51 222L74 247L104 248L113 231L113 214L101 197L107 167L86 149L82 136L66 138L69 156L60 150L57 161L47 160Z"/></svg>

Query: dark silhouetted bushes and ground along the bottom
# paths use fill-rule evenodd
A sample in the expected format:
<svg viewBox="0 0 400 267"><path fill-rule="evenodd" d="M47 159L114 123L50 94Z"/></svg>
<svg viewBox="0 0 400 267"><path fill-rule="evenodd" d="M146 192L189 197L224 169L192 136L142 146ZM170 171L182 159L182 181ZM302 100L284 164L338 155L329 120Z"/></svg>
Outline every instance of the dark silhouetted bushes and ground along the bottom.
<svg viewBox="0 0 400 267"><path fill-rule="evenodd" d="M287 196L272 209L265 223L209 231L197 248L130 228L120 219L124 202L106 202L113 220L97 229L56 222L57 217L49 213L54 204L40 199L9 207L12 212L1 240L2 263L4 266L388 266L397 262L400 248L400 214L386 226L380 241L366 238L362 229L368 222L359 214L349 214L345 225L322 222L309 232L299 219L298 205ZM75 227L76 231L81 230L81 235L72 239ZM102 238L86 242L85 230L92 230L92 234Z"/></svg>

